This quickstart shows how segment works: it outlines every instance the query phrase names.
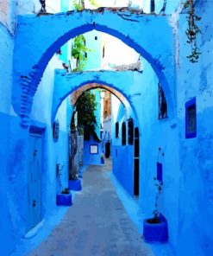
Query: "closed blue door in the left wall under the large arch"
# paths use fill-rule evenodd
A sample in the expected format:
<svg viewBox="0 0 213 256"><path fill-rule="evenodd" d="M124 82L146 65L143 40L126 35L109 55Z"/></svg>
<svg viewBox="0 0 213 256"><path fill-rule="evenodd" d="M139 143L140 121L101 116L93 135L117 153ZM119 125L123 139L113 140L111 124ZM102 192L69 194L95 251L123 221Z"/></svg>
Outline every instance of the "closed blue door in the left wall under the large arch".
<svg viewBox="0 0 213 256"><path fill-rule="evenodd" d="M41 222L41 136L30 134L28 143L27 232Z"/></svg>

